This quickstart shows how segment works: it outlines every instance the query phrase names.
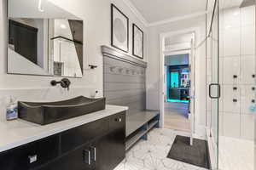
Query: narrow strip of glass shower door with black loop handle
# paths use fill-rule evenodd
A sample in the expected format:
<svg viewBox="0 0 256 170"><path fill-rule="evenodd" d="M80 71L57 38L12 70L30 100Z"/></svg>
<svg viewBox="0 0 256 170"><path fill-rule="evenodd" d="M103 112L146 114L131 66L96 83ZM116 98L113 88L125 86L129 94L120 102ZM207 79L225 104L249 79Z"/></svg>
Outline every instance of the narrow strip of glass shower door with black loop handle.
<svg viewBox="0 0 256 170"><path fill-rule="evenodd" d="M218 0L214 3L212 14L208 17L208 38L207 38L207 85L208 105L210 107L208 117L209 135L212 141L212 169L218 169L218 99L220 98L219 86L219 56L218 56Z"/></svg>

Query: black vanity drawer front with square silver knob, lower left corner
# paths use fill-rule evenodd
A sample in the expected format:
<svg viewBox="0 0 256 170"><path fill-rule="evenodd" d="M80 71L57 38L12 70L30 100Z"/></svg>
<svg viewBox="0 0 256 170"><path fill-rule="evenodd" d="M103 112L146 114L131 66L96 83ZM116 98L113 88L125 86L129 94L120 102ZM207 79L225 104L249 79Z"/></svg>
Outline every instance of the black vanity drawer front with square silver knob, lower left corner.
<svg viewBox="0 0 256 170"><path fill-rule="evenodd" d="M26 170L38 167L58 156L57 135L0 153L0 169Z"/></svg>

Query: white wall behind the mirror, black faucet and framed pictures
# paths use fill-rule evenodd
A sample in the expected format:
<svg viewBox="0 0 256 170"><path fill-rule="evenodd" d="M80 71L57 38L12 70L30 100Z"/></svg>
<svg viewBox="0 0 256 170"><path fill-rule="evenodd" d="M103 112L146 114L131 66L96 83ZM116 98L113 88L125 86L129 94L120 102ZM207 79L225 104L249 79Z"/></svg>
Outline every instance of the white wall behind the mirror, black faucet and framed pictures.
<svg viewBox="0 0 256 170"><path fill-rule="evenodd" d="M13 95L20 100L53 101L67 99L78 95L90 96L90 91L97 89L102 96L102 53L101 45L110 45L110 0L50 0L56 6L79 16L84 20L84 77L71 79L69 92L51 87L49 82L55 77L20 76L6 74L7 59L7 20L6 1L0 1L0 119L4 115L4 98ZM120 0L114 3L130 18L130 25L135 22L145 33L147 45L147 28ZM131 34L131 30L130 30ZM130 41L131 43L131 41ZM147 46L145 46L147 52ZM131 45L130 45L131 54ZM147 56L147 53L146 53ZM146 57L147 59L147 57ZM86 65L98 65L96 70L89 70ZM59 78L57 78L59 79Z"/></svg>

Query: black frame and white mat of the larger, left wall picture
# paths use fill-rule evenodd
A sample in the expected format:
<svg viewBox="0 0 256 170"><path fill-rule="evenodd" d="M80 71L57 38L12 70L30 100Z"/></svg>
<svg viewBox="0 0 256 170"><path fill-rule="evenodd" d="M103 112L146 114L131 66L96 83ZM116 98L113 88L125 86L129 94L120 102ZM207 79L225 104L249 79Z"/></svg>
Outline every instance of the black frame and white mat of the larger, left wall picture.
<svg viewBox="0 0 256 170"><path fill-rule="evenodd" d="M127 37L127 49L124 49L124 48L121 48L119 47L118 45L114 44L113 42L113 36L114 36L114 29L113 29L113 10L117 10L119 12L119 14L123 15L126 19L126 24L127 24L127 34L126 34L126 37ZM125 53L128 53L129 52L129 18L119 9L117 8L113 3L111 3L111 46L113 48L118 48L119 50L125 52Z"/></svg>

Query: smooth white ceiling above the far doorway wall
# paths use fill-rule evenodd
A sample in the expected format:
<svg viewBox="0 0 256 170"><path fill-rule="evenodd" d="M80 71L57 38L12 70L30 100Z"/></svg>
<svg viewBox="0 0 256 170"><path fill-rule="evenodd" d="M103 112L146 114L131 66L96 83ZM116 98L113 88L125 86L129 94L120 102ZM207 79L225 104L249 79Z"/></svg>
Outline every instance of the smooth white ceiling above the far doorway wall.
<svg viewBox="0 0 256 170"><path fill-rule="evenodd" d="M207 0L130 0L149 24L206 10Z"/></svg>

